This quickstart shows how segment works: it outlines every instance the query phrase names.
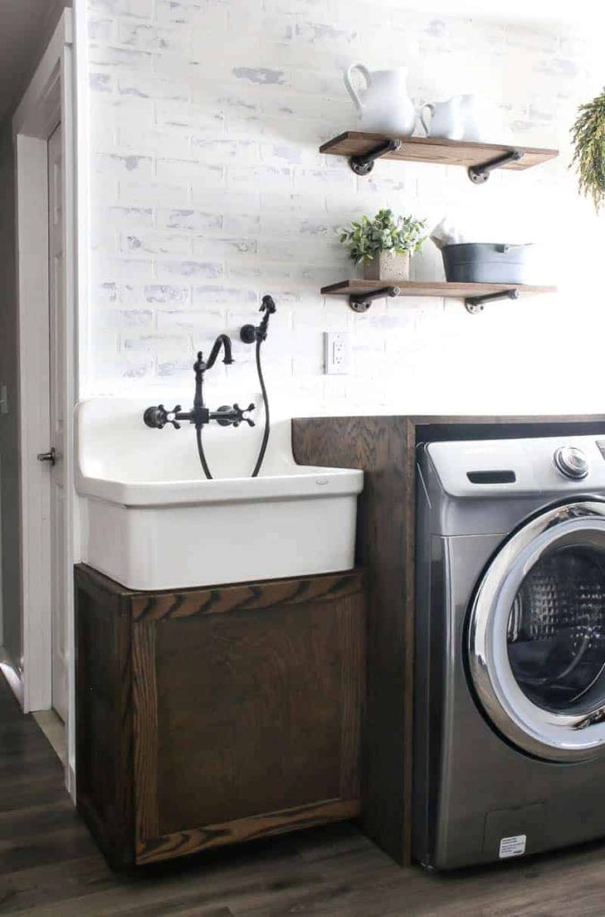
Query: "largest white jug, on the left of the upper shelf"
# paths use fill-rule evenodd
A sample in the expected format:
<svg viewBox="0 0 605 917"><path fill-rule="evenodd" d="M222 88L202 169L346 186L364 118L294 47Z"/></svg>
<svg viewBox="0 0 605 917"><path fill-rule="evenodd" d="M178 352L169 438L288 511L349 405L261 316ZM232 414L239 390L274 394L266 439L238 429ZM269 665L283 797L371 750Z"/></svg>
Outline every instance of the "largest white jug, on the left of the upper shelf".
<svg viewBox="0 0 605 917"><path fill-rule="evenodd" d="M351 81L356 70L366 82L360 93ZM407 76L407 67L369 72L362 63L351 64L345 73L345 85L358 110L362 130L391 137L412 136L416 111L408 95Z"/></svg>

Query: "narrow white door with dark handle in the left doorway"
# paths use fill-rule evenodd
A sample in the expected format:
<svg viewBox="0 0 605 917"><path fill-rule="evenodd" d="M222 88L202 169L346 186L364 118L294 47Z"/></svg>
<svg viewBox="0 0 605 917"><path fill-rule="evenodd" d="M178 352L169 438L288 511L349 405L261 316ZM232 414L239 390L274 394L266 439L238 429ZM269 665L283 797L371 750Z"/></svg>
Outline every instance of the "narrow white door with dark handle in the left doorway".
<svg viewBox="0 0 605 917"><path fill-rule="evenodd" d="M50 468L50 563L52 615L52 706L65 722L67 689L67 594L65 545L65 268L63 238L63 138L61 125L49 138L49 356L50 443L55 464Z"/></svg>

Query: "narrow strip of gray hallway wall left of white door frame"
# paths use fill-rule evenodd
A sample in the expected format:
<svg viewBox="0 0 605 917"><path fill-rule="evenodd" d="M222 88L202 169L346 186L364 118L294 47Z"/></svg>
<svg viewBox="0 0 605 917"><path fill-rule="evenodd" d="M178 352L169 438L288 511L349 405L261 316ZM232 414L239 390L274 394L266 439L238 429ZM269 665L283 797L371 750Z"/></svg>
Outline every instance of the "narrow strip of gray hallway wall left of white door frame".
<svg viewBox="0 0 605 917"><path fill-rule="evenodd" d="M8 388L8 414L0 414L3 643L13 662L22 653L19 589L17 449L17 289L15 160L10 122L0 127L0 384Z"/></svg>

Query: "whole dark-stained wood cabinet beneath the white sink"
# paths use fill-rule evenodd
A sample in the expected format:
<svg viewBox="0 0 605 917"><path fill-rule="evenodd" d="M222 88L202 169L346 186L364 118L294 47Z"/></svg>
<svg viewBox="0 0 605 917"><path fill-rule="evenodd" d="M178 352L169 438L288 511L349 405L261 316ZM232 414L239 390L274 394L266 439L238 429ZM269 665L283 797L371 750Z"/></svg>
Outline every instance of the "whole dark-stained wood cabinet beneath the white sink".
<svg viewBox="0 0 605 917"><path fill-rule="evenodd" d="M78 808L113 865L358 815L360 571L75 586Z"/></svg>

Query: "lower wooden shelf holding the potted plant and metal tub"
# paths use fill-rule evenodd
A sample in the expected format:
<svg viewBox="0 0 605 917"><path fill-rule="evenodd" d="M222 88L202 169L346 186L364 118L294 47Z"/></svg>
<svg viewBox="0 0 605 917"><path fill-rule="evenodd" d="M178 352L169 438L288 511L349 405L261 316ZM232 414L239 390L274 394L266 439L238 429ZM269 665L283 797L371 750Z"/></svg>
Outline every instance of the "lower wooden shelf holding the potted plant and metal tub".
<svg viewBox="0 0 605 917"><path fill-rule="evenodd" d="M433 296L463 299L469 312L480 312L483 304L495 299L518 299L530 293L556 293L556 286L523 283L447 283L441 281L363 281L348 280L322 287L325 296L348 296L355 312L367 312L372 300L381 297Z"/></svg>

